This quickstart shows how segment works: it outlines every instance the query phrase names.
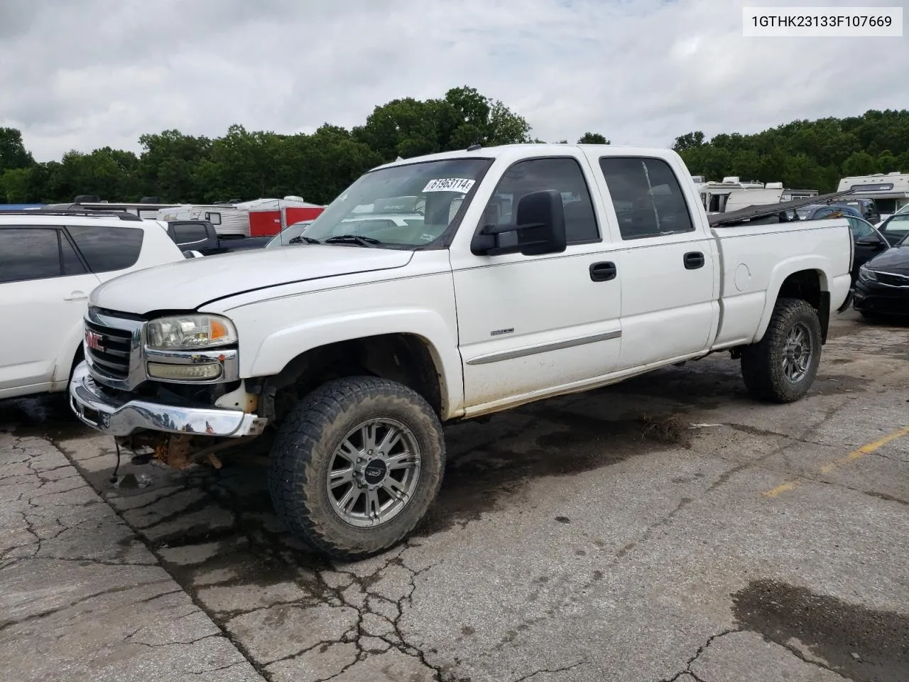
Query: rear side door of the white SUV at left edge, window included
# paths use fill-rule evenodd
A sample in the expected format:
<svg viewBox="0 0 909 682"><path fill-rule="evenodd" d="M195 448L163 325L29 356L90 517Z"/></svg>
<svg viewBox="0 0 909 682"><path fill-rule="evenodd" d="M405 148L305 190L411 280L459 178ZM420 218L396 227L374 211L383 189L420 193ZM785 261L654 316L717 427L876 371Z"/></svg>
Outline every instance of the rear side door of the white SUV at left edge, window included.
<svg viewBox="0 0 909 682"><path fill-rule="evenodd" d="M0 227L0 398L45 391L68 378L82 338L72 338L72 330L81 329L86 300L99 283L64 230Z"/></svg>

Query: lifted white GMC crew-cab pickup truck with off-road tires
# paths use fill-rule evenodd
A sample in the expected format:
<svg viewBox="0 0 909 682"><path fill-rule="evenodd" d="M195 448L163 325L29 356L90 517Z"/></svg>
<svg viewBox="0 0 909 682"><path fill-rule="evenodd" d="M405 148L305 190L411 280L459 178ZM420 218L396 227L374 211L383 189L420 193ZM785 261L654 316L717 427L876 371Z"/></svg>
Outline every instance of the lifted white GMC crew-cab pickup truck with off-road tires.
<svg viewBox="0 0 909 682"><path fill-rule="evenodd" d="M406 219L387 219L393 197ZM847 301L849 226L759 222L711 226L666 149L399 160L338 196L305 244L99 286L71 404L177 468L274 436L279 516L329 556L367 557L433 503L446 423L720 350L756 398L804 396Z"/></svg>

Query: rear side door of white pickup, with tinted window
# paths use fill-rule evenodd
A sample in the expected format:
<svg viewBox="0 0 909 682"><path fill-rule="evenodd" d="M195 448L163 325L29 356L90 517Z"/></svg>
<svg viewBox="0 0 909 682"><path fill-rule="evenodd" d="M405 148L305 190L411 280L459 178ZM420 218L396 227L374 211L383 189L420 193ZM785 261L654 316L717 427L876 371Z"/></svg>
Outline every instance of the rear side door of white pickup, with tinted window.
<svg viewBox="0 0 909 682"><path fill-rule="evenodd" d="M594 155L594 152L589 152ZM706 349L719 320L718 255L697 196L665 159L601 155L604 196L614 209L622 279L624 370Z"/></svg>

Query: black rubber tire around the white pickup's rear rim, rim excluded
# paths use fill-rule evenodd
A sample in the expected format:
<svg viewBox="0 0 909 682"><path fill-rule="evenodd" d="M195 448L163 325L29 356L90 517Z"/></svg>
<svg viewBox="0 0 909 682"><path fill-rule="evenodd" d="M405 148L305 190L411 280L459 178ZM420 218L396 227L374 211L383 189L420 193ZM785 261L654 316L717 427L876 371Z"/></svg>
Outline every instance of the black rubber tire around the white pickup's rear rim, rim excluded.
<svg viewBox="0 0 909 682"><path fill-rule="evenodd" d="M786 335L800 322L808 329L812 356L808 371L791 383L783 374L783 354ZM799 298L780 298L764 337L742 350L742 378L748 392L759 400L793 403L811 388L820 362L821 322L814 306Z"/></svg>

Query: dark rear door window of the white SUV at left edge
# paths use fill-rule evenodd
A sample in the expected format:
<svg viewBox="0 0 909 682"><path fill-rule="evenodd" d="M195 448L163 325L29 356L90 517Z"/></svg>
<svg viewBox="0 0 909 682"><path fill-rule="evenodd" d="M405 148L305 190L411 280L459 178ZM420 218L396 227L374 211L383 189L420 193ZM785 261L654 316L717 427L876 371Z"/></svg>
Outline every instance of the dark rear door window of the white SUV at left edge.
<svg viewBox="0 0 909 682"><path fill-rule="evenodd" d="M61 272L55 228L0 228L0 283L59 277Z"/></svg>

